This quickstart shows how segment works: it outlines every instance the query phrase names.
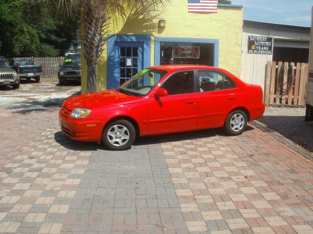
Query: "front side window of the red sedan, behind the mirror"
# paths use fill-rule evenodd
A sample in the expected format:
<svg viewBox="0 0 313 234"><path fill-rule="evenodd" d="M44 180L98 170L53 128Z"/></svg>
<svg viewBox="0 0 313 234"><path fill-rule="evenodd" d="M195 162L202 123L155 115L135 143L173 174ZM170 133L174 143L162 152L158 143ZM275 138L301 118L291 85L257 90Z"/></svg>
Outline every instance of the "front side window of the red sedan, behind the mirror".
<svg viewBox="0 0 313 234"><path fill-rule="evenodd" d="M169 77L161 86L168 95L191 94L194 92L194 72L178 72Z"/></svg>

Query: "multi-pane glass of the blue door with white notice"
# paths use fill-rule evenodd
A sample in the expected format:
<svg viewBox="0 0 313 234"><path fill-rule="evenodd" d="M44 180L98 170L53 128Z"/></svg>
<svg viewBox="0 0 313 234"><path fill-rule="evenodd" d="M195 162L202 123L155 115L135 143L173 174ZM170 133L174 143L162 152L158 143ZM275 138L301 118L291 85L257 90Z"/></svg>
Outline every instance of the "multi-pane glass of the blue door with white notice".
<svg viewBox="0 0 313 234"><path fill-rule="evenodd" d="M138 73L138 47L120 47L120 85Z"/></svg>

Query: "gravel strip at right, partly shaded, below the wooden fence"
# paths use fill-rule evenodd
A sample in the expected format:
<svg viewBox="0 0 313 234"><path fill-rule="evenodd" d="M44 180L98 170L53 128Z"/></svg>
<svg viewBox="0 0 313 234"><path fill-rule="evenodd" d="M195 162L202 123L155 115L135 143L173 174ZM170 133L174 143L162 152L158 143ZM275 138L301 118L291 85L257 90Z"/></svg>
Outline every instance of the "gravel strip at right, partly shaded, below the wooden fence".
<svg viewBox="0 0 313 234"><path fill-rule="evenodd" d="M313 122L304 122L305 107L268 106L259 122L313 153Z"/></svg>

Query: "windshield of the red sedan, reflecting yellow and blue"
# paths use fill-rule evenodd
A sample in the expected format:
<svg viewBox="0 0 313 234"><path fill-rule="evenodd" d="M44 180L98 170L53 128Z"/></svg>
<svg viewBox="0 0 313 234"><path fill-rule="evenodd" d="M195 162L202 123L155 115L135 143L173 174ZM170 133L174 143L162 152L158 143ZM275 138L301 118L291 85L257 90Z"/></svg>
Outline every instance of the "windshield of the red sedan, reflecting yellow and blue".
<svg viewBox="0 0 313 234"><path fill-rule="evenodd" d="M166 75L167 71L143 69L133 78L122 84L117 91L132 96L147 95L157 82Z"/></svg>

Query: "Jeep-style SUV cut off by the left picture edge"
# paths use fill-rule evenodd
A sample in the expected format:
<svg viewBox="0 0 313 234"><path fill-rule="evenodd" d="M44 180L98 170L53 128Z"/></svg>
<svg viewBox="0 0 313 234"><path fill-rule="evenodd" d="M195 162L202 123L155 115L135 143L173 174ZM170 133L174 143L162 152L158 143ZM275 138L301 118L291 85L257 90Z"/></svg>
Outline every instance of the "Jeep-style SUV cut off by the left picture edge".
<svg viewBox="0 0 313 234"><path fill-rule="evenodd" d="M4 59L0 59L0 85L9 85L13 89L20 88L20 76Z"/></svg>

